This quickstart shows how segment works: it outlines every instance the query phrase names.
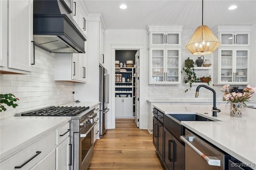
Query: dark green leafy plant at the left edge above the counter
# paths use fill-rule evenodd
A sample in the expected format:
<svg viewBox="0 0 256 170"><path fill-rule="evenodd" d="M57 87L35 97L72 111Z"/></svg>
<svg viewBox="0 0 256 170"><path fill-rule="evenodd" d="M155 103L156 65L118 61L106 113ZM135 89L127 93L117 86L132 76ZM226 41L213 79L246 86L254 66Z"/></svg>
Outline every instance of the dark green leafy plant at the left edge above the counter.
<svg viewBox="0 0 256 170"><path fill-rule="evenodd" d="M12 93L0 94L0 112L6 111L6 108L2 104L6 104L7 106L12 106L13 108L18 106L18 104L14 103L17 100L20 100L20 99L15 97Z"/></svg>

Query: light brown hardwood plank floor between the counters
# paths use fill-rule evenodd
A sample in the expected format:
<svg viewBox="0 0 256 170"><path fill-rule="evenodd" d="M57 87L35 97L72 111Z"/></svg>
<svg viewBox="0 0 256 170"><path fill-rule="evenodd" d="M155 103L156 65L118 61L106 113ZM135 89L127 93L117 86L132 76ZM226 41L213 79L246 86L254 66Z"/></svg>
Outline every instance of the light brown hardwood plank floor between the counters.
<svg viewBox="0 0 256 170"><path fill-rule="evenodd" d="M116 119L116 128L108 129L94 144L92 169L164 170L148 130L136 127L134 119Z"/></svg>

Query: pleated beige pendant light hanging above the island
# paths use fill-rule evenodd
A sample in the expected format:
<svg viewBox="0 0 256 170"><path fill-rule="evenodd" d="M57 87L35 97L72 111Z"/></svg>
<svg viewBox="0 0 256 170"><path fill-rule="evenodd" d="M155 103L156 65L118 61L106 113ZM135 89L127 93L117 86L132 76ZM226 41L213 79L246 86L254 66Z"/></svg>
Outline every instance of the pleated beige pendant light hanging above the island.
<svg viewBox="0 0 256 170"><path fill-rule="evenodd" d="M210 54L220 45L220 42L216 36L214 36L210 28L203 25L203 6L204 2L202 0L202 26L196 29L186 45L186 49L193 55Z"/></svg>

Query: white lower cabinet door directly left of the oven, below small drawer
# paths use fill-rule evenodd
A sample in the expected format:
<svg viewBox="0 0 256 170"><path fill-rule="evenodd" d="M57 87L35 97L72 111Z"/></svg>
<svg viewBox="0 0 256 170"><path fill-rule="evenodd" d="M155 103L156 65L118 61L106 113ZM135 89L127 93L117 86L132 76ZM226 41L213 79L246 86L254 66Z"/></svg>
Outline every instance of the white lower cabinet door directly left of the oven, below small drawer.
<svg viewBox="0 0 256 170"><path fill-rule="evenodd" d="M69 170L70 138L56 147L56 170Z"/></svg>

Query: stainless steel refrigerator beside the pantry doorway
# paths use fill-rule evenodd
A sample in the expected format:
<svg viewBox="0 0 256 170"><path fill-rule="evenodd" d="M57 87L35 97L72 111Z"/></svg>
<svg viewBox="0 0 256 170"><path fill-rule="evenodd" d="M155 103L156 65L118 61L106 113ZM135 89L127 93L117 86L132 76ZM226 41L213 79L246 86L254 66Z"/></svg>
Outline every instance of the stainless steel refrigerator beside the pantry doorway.
<svg viewBox="0 0 256 170"><path fill-rule="evenodd" d="M99 101L100 101L100 138L106 132L106 114L108 113L109 103L109 74L108 70L102 65L99 66Z"/></svg>

